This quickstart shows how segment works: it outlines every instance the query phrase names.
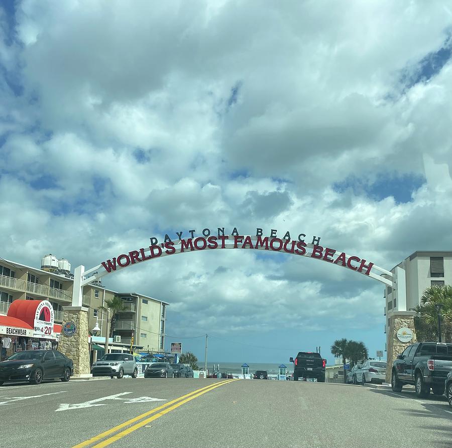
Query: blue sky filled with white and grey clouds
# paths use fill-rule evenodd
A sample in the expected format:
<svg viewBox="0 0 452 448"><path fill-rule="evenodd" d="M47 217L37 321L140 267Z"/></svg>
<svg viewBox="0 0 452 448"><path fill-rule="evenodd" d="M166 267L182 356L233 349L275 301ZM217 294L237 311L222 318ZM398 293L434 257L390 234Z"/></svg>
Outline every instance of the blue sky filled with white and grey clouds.
<svg viewBox="0 0 452 448"><path fill-rule="evenodd" d="M0 24L3 258L90 268L218 226L388 269L452 247L449 2L8 0ZM170 303L167 344L200 359L180 338L212 361L384 349L383 284L309 258L204 251L104 284Z"/></svg>

